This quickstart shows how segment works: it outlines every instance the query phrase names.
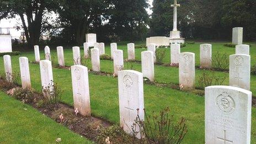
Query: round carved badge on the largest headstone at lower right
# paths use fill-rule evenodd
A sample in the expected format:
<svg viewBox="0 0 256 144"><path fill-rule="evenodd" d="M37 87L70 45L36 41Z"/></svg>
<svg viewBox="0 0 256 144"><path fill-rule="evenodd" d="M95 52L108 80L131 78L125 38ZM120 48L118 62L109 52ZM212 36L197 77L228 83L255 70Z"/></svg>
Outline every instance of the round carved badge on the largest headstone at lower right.
<svg viewBox="0 0 256 144"><path fill-rule="evenodd" d="M218 109L226 115L232 114L236 108L233 98L226 92L218 95L216 98L216 105L218 106Z"/></svg>

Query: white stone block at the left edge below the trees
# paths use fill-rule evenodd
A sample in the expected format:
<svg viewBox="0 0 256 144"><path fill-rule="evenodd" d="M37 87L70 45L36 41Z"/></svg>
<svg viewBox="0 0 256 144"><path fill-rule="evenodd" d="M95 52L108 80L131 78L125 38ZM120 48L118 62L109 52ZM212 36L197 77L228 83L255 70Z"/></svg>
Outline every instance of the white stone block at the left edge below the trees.
<svg viewBox="0 0 256 144"><path fill-rule="evenodd" d="M0 52L12 52L12 37L0 35Z"/></svg>

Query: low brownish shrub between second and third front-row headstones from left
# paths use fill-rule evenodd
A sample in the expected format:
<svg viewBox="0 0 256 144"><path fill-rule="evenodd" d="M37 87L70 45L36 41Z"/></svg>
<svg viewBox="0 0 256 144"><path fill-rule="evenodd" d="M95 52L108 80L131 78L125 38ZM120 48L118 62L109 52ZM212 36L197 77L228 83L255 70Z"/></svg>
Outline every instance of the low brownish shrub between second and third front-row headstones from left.
<svg viewBox="0 0 256 144"><path fill-rule="evenodd" d="M34 90L29 88L17 88L13 92L13 97L24 103L34 102Z"/></svg>

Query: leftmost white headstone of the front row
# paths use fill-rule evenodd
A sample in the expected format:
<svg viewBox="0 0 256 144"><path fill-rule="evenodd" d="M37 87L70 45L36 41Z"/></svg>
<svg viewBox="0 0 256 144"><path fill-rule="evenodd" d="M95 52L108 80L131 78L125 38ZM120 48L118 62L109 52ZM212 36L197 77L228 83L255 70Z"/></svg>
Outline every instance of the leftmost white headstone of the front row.
<svg viewBox="0 0 256 144"><path fill-rule="evenodd" d="M10 60L9 55L3 56L3 63L4 63L4 72L6 72L6 80L7 82L12 82L12 79L13 79L12 61Z"/></svg>

